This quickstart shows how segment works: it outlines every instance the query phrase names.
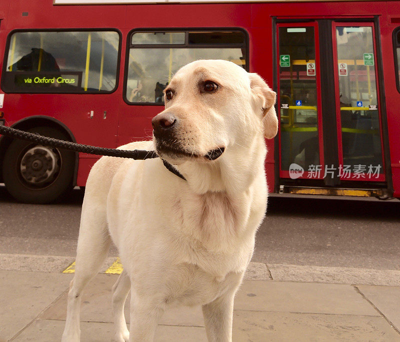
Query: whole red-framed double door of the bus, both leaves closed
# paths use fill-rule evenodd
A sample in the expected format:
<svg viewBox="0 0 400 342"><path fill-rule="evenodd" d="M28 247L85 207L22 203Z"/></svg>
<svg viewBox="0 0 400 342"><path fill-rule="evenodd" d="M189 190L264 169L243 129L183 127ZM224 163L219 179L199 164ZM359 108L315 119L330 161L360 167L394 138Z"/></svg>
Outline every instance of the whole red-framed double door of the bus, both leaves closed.
<svg viewBox="0 0 400 342"><path fill-rule="evenodd" d="M277 23L280 185L385 180L375 60L372 22Z"/></svg>

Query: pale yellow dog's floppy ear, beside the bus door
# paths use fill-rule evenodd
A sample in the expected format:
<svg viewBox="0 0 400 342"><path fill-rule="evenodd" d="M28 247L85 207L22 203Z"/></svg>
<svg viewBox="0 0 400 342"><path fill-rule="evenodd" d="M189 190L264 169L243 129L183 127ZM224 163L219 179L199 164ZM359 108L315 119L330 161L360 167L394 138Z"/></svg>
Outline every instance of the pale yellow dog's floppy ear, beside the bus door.
<svg viewBox="0 0 400 342"><path fill-rule="evenodd" d="M273 138L278 131L278 118L275 112L276 92L256 73L249 73L250 88L262 109L262 123L264 135L267 139Z"/></svg>

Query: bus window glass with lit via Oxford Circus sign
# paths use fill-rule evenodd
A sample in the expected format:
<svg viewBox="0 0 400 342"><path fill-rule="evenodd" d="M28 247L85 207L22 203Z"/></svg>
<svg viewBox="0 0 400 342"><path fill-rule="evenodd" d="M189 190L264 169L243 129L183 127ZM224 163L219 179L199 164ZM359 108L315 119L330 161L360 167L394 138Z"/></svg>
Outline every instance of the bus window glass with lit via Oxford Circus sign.
<svg viewBox="0 0 400 342"><path fill-rule="evenodd" d="M7 92L110 92L116 87L115 31L18 31L9 36Z"/></svg>

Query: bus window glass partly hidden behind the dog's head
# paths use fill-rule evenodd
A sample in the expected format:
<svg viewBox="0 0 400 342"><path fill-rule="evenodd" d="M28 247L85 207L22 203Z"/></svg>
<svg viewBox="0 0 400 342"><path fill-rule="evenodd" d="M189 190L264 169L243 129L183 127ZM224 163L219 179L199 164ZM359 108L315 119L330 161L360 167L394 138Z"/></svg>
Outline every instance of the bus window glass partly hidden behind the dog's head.
<svg viewBox="0 0 400 342"><path fill-rule="evenodd" d="M163 103L162 90L181 66L225 59L246 68L241 31L133 32L125 97L129 103Z"/></svg>

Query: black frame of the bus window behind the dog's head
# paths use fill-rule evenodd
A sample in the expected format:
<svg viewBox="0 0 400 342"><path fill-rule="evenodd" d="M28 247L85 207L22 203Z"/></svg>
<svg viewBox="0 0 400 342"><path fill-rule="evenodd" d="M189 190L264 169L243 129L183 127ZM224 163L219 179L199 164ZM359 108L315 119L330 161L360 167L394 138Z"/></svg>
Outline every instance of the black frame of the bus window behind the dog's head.
<svg viewBox="0 0 400 342"><path fill-rule="evenodd" d="M128 69L129 69L129 51L130 48L179 48L179 47L188 47L188 42L186 41L186 32L195 32L195 31L240 31L244 34L244 51L245 55L245 70L249 71L249 34L246 29L243 27L146 27L146 28L133 28L131 29L126 37L126 50L125 50L125 65L124 65L124 73L123 73L123 90L122 90L122 98L123 101L128 105L153 105L153 106L163 106L164 102L130 102L126 97L127 91L127 78L128 78ZM137 32L184 32L185 33L185 43L184 44L132 44L132 35ZM212 45L212 44L197 44L196 47L192 46L192 48L209 48L209 47L221 47L222 44ZM228 45L228 44L226 44ZM238 44L231 44L238 45Z"/></svg>

